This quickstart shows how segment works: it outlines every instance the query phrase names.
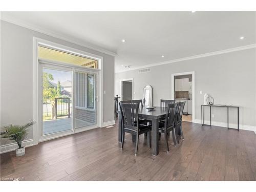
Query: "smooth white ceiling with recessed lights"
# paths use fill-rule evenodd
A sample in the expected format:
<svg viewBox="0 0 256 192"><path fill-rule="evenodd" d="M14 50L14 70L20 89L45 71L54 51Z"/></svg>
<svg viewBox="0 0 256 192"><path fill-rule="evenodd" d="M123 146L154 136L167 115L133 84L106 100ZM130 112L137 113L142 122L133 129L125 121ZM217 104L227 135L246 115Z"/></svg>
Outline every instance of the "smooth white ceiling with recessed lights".
<svg viewBox="0 0 256 192"><path fill-rule="evenodd" d="M117 53L116 72L256 41L256 12L2 12L5 18Z"/></svg>

